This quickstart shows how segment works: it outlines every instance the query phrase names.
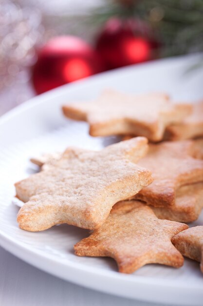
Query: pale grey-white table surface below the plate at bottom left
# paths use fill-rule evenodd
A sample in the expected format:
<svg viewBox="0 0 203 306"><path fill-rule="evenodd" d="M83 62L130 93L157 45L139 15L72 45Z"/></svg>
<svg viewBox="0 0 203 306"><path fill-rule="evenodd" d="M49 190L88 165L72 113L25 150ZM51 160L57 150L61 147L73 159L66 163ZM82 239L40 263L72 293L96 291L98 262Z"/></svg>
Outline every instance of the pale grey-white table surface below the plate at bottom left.
<svg viewBox="0 0 203 306"><path fill-rule="evenodd" d="M19 260L1 247L0 305L155 306L155 304L100 293L60 280Z"/></svg>

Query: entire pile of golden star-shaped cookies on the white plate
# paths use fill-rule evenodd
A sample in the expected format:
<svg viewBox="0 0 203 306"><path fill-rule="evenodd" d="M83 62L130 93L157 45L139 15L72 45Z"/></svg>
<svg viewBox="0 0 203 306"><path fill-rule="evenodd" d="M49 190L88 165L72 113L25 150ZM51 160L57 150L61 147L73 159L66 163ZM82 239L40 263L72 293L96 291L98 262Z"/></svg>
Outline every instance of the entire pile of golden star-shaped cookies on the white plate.
<svg viewBox="0 0 203 306"><path fill-rule="evenodd" d="M183 255L201 262L203 226L185 223L203 208L203 102L106 90L63 112L88 121L92 136L125 140L101 151L69 147L33 158L41 171L15 184L25 202L20 228L68 223L90 229L75 254L112 257L124 273L147 263L181 267Z"/></svg>

